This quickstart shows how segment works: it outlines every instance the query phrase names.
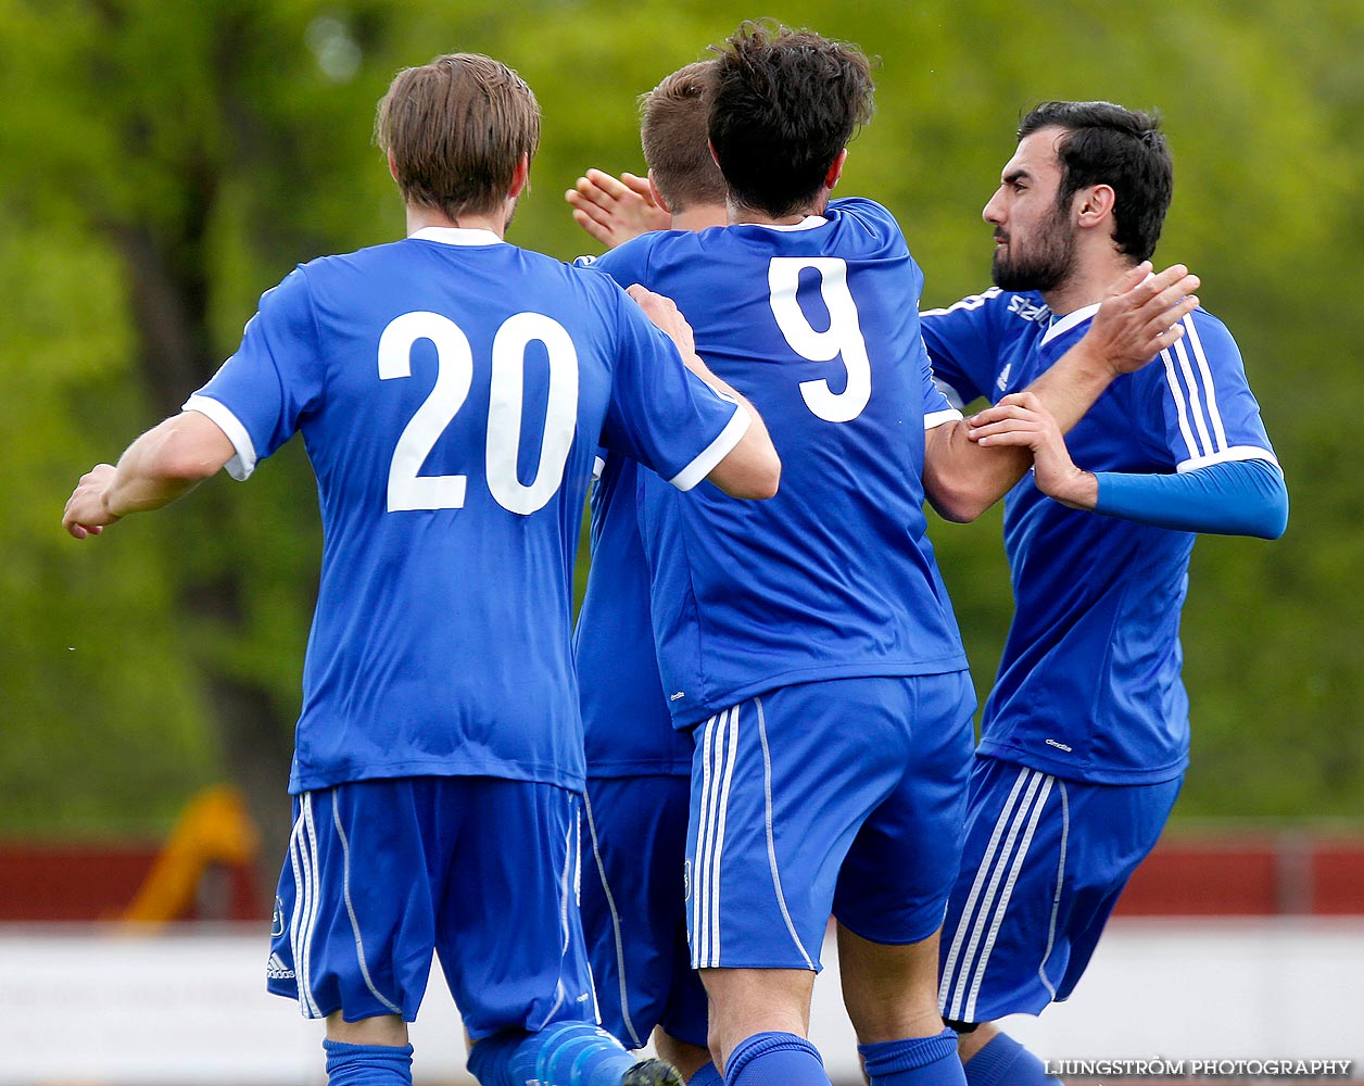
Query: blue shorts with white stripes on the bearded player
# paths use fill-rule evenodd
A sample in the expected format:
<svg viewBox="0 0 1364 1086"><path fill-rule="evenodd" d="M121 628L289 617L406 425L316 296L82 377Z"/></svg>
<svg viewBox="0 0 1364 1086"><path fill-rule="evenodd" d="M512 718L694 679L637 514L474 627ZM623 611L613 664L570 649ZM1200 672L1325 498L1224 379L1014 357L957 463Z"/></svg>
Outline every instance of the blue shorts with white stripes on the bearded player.
<svg viewBox="0 0 1364 1086"><path fill-rule="evenodd" d="M977 754L943 925L943 1016L993 1022L1069 996L1181 782L1090 784Z"/></svg>

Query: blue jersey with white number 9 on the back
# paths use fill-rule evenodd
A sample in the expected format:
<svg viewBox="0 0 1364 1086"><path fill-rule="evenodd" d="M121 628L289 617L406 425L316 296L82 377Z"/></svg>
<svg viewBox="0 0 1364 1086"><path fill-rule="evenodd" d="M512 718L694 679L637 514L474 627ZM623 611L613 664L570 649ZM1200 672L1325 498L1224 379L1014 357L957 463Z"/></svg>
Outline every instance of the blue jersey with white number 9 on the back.
<svg viewBox="0 0 1364 1086"><path fill-rule="evenodd" d="M964 670L922 482L925 428L960 416L933 385L923 277L891 213L843 199L794 226L645 235L593 267L677 302L782 457L765 502L641 473L674 724L777 686Z"/></svg>

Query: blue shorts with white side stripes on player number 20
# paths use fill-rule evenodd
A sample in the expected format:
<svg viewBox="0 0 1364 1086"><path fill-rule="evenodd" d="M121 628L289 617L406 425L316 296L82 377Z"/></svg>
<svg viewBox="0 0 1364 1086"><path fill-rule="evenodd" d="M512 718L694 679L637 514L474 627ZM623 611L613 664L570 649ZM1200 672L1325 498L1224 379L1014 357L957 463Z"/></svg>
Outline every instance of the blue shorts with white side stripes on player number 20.
<svg viewBox="0 0 1364 1086"><path fill-rule="evenodd" d="M596 1021L576 905L578 797L481 776L295 797L271 992L307 1018L416 1018L432 951L475 1038Z"/></svg>

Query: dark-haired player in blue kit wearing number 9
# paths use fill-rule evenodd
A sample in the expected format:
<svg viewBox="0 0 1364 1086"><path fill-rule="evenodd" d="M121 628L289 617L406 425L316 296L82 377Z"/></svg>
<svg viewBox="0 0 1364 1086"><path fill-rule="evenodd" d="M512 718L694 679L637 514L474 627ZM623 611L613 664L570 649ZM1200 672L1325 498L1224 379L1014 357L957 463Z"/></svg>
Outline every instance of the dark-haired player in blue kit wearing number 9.
<svg viewBox="0 0 1364 1086"><path fill-rule="evenodd" d="M672 292L698 353L777 420L786 465L769 516L734 516L701 491L672 501L649 472L637 487L660 674L674 724L696 739L687 917L711 1052L731 1085L828 1082L805 1033L832 911L872 1082L960 1082L937 1011L937 929L974 694L922 503L970 520L1031 457L973 443L933 386L922 277L893 218L829 202L869 116L866 59L746 26L716 72L708 131L731 225L645 235L596 262ZM1073 424L1181 334L1192 282L1184 269L1129 273L1033 386L1037 404Z"/></svg>

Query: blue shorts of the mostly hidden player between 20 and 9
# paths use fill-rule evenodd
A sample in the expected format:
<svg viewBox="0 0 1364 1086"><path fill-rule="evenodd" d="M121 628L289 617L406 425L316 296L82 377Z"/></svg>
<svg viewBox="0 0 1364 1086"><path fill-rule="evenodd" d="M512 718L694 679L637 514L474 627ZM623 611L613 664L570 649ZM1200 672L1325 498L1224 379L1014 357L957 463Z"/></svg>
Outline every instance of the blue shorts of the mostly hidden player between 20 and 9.
<svg viewBox="0 0 1364 1086"><path fill-rule="evenodd" d="M655 1026L705 1046L707 1004L686 945L686 776L588 779L582 930L602 1026L644 1048Z"/></svg>

